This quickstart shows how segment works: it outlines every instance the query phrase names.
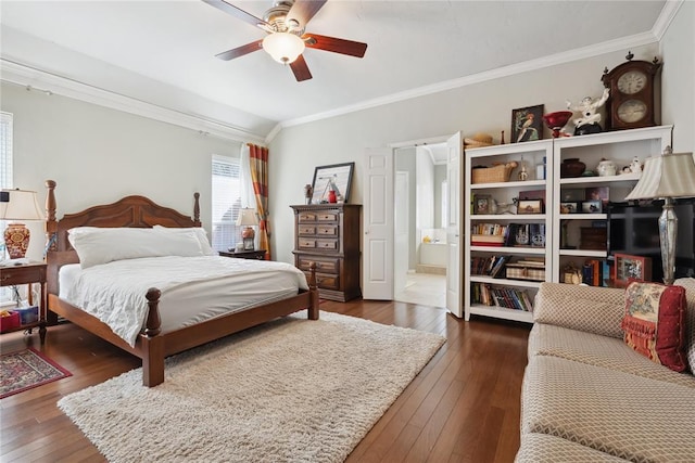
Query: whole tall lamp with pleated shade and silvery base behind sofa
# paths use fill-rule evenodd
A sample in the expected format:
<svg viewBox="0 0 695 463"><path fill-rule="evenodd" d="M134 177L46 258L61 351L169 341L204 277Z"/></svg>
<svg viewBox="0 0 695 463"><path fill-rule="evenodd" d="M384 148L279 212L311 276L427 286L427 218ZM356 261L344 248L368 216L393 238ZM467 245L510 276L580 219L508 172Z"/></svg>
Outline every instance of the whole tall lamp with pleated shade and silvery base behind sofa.
<svg viewBox="0 0 695 463"><path fill-rule="evenodd" d="M666 284L673 284L675 273L675 197L695 197L695 160L693 153L672 153L671 147L667 146L664 154L645 160L640 181L626 197L627 201L664 200L664 211L659 217L659 241Z"/></svg>

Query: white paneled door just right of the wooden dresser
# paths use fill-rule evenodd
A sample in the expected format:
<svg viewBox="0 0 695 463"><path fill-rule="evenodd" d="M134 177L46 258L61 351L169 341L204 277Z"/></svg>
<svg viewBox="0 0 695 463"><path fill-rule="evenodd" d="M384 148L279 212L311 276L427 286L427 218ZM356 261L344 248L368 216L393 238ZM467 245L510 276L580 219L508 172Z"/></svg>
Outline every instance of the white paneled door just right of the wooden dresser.
<svg viewBox="0 0 695 463"><path fill-rule="evenodd" d="M365 299L393 299L393 152L365 150L363 285Z"/></svg>

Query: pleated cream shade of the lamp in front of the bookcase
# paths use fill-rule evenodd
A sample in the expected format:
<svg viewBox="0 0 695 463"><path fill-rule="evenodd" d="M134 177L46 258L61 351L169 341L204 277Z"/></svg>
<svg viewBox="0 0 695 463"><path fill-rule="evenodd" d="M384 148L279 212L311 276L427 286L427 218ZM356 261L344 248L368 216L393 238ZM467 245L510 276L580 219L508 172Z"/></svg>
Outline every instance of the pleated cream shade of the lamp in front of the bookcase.
<svg viewBox="0 0 695 463"><path fill-rule="evenodd" d="M671 153L647 157L640 181L626 200L695 197L695 159L693 153Z"/></svg>

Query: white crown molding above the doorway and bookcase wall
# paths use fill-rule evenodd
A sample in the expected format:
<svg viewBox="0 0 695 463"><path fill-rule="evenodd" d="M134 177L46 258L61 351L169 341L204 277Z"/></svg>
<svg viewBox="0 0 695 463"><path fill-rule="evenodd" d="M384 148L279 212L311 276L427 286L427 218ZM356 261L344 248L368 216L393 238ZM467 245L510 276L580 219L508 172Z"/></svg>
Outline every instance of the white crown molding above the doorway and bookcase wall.
<svg viewBox="0 0 695 463"><path fill-rule="evenodd" d="M671 3L678 3L678 4L673 5ZM661 27L668 27L668 24L678 12L678 8L680 7L680 3L681 1L667 2L667 5L665 5L664 10L661 11L661 14L659 15L659 21L657 21L659 25L659 29L658 29L659 31L661 31L660 29ZM667 17L668 17L668 23L666 20ZM655 25L655 28L656 28L656 25ZM661 31L661 35L662 34L664 31ZM425 95L439 93L439 92L443 92L452 89L457 89L460 87L471 86L471 85L484 82L488 80L498 79L501 77L509 77L509 76L518 75L521 73L542 69L549 66L556 66L556 65L569 63L572 61L598 56L605 53L612 53L616 51L629 50L630 48L633 48L633 47L641 47L641 46L655 43L655 42L658 42L658 39L653 29L647 33L622 37L620 39L609 40L602 43L582 47L582 48L563 52L563 53L542 56L535 60L530 60L522 63L516 63L508 66L485 70L482 73L473 74L473 75L457 78L457 79L445 80L431 86L426 86L426 87L420 87L413 90L407 90L404 92L393 93L393 94L381 97L374 100L367 100L350 106L343 106L332 111L313 114L311 116L300 117L300 118L290 119L290 120L283 120L273 128L273 130L266 137L265 142L270 143L275 138L275 136L277 136L277 133L279 133L280 130L287 127L299 126L302 124L313 123L321 119L328 119L330 117L341 116L344 114L369 110L369 108L382 106L386 104L397 103L401 101L410 100L418 97L425 97Z"/></svg>

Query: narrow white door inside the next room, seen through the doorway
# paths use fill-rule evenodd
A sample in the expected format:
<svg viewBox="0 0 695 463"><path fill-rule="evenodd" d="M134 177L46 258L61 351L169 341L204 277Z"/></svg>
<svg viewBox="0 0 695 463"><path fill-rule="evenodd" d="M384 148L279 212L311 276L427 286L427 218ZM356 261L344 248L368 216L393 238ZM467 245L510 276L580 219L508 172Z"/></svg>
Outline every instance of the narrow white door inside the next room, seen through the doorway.
<svg viewBox="0 0 695 463"><path fill-rule="evenodd" d="M394 249L393 249L393 294L405 291L409 267L410 240L408 235L409 181L407 171L395 172Z"/></svg>

